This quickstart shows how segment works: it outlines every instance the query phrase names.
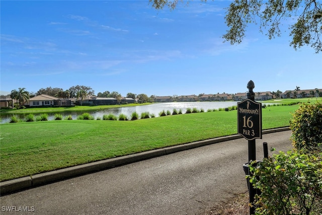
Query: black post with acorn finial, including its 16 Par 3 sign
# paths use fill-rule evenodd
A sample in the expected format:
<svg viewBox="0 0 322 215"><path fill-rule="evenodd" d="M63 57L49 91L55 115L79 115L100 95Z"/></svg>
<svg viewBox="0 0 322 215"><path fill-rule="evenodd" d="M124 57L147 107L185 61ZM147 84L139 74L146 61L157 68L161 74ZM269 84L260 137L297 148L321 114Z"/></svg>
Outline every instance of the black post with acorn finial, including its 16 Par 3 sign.
<svg viewBox="0 0 322 215"><path fill-rule="evenodd" d="M248 139L248 160L249 165L251 161L256 161L256 140L262 138L262 104L255 102L255 88L254 82L251 80L247 84L249 92L247 99L237 103L237 127L238 134ZM248 175L250 170L248 168ZM248 180L249 182L249 180ZM248 184L250 203L254 202L255 189L253 185ZM255 213L255 208L250 206L250 214Z"/></svg>

